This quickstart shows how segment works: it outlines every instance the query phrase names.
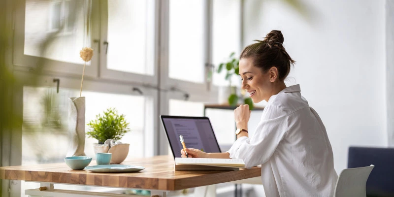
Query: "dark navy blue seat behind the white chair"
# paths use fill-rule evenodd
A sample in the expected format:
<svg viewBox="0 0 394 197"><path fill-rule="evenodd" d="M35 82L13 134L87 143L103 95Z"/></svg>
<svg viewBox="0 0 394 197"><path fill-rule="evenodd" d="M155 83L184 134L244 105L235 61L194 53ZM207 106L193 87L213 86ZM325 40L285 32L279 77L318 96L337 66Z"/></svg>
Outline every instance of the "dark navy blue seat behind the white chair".
<svg viewBox="0 0 394 197"><path fill-rule="evenodd" d="M349 147L348 168L375 165L366 182L367 197L394 197L394 148Z"/></svg>

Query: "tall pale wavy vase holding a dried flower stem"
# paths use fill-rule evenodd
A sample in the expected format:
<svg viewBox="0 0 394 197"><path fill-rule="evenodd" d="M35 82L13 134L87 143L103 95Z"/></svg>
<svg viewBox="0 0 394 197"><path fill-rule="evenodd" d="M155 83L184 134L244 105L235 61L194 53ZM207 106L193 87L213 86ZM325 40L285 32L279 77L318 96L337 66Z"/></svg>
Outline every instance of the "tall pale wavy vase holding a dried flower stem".
<svg viewBox="0 0 394 197"><path fill-rule="evenodd" d="M85 97L69 98L66 157L85 155Z"/></svg>

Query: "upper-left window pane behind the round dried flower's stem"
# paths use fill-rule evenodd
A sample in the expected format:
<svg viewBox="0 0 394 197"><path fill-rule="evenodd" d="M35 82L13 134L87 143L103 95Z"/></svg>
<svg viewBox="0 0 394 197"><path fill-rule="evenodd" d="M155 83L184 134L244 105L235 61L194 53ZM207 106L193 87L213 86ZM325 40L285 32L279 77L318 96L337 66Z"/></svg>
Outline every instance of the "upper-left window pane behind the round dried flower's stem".
<svg viewBox="0 0 394 197"><path fill-rule="evenodd" d="M90 46L89 6L87 0L26 0L24 54L83 64L79 51Z"/></svg>

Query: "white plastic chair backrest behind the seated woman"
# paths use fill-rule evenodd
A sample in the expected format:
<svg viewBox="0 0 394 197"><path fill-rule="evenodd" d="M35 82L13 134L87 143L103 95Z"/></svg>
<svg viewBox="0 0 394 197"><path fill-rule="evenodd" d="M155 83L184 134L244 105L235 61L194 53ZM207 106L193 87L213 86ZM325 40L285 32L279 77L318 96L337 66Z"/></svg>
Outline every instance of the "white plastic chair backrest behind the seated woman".
<svg viewBox="0 0 394 197"><path fill-rule="evenodd" d="M374 165L344 169L338 176L334 197L366 197L365 184Z"/></svg>

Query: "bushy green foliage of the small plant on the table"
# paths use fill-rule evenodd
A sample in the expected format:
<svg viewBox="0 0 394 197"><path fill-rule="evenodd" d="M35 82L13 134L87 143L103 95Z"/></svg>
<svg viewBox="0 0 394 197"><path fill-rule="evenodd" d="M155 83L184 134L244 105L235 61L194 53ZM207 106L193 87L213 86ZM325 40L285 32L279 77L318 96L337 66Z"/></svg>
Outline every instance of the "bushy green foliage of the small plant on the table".
<svg viewBox="0 0 394 197"><path fill-rule="evenodd" d="M99 144L104 143L107 139L118 141L130 131L125 115L119 115L115 108L107 109L102 116L97 115L95 120L88 123L88 126L91 131L86 132L86 134L99 140Z"/></svg>

